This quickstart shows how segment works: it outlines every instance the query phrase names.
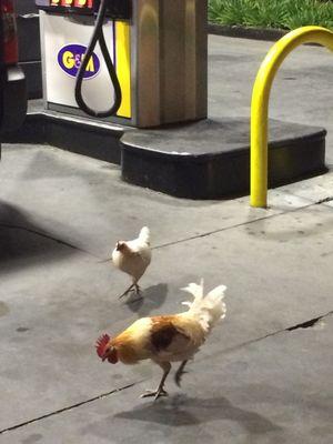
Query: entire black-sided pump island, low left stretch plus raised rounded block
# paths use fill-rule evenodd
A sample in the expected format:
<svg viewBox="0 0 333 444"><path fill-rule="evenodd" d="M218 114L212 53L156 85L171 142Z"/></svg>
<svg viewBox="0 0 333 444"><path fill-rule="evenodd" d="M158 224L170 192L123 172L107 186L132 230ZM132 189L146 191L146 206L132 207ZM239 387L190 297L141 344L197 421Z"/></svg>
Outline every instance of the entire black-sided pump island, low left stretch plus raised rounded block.
<svg viewBox="0 0 333 444"><path fill-rule="evenodd" d="M121 164L129 183L186 199L249 194L249 119L208 119L137 130L61 113L34 113L7 141L49 143ZM270 188L325 172L321 128L270 121ZM6 141L3 140L3 141Z"/></svg>

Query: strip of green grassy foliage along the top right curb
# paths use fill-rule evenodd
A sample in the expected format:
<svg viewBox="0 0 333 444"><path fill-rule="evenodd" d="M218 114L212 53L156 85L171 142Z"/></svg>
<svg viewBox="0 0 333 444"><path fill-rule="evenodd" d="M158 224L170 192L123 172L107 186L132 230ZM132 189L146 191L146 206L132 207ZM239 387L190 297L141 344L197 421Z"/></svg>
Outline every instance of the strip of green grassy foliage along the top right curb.
<svg viewBox="0 0 333 444"><path fill-rule="evenodd" d="M214 23L295 29L316 24L333 29L333 2L320 0L209 0Z"/></svg>

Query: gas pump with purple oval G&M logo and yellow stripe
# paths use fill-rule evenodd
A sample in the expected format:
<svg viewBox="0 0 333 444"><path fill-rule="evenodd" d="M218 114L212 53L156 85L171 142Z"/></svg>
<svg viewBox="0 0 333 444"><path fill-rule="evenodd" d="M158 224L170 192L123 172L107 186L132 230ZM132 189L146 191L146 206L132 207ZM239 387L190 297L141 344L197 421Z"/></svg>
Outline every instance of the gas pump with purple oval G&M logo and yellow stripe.
<svg viewBox="0 0 333 444"><path fill-rule="evenodd" d="M46 109L138 128L206 118L206 0L36 0Z"/></svg>

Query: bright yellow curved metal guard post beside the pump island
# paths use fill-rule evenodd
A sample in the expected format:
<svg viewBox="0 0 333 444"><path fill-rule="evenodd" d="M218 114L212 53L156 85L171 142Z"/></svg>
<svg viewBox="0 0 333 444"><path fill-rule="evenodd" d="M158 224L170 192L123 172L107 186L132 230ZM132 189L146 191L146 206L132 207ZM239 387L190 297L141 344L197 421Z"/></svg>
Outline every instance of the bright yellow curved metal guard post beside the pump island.
<svg viewBox="0 0 333 444"><path fill-rule="evenodd" d="M252 206L268 206L268 120L271 87L285 57L302 43L320 43L333 51L333 32L321 27L303 27L289 32L270 49L254 81L251 103Z"/></svg>

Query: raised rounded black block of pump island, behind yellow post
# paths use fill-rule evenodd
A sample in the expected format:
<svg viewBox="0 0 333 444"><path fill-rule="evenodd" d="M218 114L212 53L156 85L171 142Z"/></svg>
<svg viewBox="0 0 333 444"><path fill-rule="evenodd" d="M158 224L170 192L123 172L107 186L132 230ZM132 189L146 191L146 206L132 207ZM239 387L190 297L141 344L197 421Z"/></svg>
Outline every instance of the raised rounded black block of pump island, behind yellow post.
<svg viewBox="0 0 333 444"><path fill-rule="evenodd" d="M249 119L208 119L188 125L127 132L122 179L188 199L249 193ZM325 171L320 128L270 121L270 186Z"/></svg>

